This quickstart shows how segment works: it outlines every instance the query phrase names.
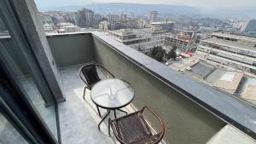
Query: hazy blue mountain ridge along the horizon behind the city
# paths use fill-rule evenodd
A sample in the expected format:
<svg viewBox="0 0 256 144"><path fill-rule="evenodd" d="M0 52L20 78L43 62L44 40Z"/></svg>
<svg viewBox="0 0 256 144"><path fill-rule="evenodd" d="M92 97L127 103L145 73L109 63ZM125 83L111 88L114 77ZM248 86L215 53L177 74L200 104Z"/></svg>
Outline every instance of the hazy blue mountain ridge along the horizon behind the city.
<svg viewBox="0 0 256 144"><path fill-rule="evenodd" d="M151 10L156 10L160 15L166 14L201 14L215 18L256 18L255 8L234 9L203 9L197 7L170 5L170 4L141 4L141 3L91 3L87 5L71 5L66 7L55 7L39 9L41 11L77 11L86 8L96 14L136 14L145 15Z"/></svg>

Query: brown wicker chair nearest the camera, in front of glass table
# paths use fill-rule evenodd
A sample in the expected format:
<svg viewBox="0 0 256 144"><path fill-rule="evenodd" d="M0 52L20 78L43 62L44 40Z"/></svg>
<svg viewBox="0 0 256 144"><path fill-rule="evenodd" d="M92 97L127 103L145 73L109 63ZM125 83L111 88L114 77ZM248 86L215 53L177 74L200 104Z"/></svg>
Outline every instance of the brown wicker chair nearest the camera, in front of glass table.
<svg viewBox="0 0 256 144"><path fill-rule="evenodd" d="M145 108L160 121L160 133L153 135L149 129L143 117ZM147 106L143 107L140 111L133 112L121 118L113 120L109 118L108 123L108 134L110 135L111 126L113 134L122 144L156 144L162 140L165 134L163 120Z"/></svg>

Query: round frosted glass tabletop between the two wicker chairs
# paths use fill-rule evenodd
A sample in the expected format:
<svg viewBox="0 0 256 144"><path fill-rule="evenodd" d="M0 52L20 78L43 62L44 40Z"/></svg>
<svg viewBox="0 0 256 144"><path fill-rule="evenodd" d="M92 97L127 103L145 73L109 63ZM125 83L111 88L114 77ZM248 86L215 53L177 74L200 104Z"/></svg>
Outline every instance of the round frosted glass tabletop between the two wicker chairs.
<svg viewBox="0 0 256 144"><path fill-rule="evenodd" d="M131 84L116 78L104 79L90 91L90 98L97 106L109 109L125 107L133 97L134 89Z"/></svg>

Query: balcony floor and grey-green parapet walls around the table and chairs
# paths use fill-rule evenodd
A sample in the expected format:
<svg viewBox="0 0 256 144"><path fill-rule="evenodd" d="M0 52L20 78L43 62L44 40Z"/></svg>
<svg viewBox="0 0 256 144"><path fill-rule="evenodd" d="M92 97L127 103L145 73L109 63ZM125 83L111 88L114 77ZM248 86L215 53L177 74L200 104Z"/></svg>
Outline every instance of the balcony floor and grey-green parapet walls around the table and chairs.
<svg viewBox="0 0 256 144"><path fill-rule="evenodd" d="M100 32L51 34L47 40L66 96L66 101L59 103L62 143L118 143L113 134L108 135L107 120L102 130L97 129L101 118L90 101L89 90L83 100L84 83L79 79L79 68L89 61L100 63L116 78L133 85L136 96L126 111L148 105L164 119L166 135L162 143L207 143L219 131L232 133L227 125L256 137L253 107L195 82ZM152 129L159 127L156 119L147 116L147 120Z"/></svg>

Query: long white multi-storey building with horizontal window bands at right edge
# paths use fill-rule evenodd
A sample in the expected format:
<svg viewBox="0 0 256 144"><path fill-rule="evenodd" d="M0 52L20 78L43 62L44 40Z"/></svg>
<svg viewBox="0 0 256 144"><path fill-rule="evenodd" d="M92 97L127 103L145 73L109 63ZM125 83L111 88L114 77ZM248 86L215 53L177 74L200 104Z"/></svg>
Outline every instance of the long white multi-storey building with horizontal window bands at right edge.
<svg viewBox="0 0 256 144"><path fill-rule="evenodd" d="M256 74L256 38L229 32L212 32L201 40L196 55L214 66L224 66Z"/></svg>

